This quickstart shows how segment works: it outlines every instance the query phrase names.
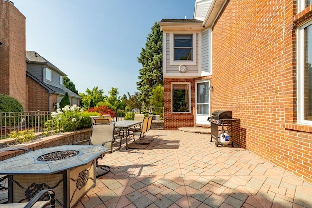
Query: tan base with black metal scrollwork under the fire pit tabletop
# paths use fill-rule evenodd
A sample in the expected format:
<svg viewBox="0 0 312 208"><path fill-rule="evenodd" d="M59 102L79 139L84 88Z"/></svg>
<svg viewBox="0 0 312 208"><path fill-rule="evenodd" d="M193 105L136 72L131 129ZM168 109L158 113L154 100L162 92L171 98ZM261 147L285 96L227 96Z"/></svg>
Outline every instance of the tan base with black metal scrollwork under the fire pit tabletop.
<svg viewBox="0 0 312 208"><path fill-rule="evenodd" d="M53 175L13 175L13 203L28 202L40 190L53 189L57 207L73 207L95 186L94 168L95 161L91 161Z"/></svg>

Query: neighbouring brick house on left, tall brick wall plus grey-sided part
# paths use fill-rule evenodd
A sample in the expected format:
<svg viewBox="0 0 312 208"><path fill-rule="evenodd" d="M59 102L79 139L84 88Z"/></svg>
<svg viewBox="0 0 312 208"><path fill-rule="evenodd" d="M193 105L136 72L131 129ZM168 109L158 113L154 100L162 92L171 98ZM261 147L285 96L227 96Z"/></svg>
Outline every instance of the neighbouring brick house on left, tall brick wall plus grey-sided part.
<svg viewBox="0 0 312 208"><path fill-rule="evenodd" d="M0 0L0 93L17 99L25 111L54 110L68 92L71 105L81 97L63 86L67 76L35 51L26 51L25 16Z"/></svg>

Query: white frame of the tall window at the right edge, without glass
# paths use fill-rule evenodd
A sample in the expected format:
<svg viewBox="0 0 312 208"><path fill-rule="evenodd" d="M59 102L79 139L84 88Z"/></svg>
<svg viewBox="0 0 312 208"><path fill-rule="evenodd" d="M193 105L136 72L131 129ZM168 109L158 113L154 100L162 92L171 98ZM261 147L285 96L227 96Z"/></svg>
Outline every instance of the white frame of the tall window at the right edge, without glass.
<svg viewBox="0 0 312 208"><path fill-rule="evenodd" d="M312 125L312 121L304 120L304 29L312 25L307 22L297 31L297 123Z"/></svg>

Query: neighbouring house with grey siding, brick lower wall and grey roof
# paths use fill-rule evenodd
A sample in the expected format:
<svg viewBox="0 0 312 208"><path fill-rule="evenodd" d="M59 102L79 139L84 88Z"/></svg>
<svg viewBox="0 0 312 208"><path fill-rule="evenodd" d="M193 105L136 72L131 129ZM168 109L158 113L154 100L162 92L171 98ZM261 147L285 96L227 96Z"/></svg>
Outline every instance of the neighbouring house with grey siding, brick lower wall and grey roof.
<svg viewBox="0 0 312 208"><path fill-rule="evenodd" d="M71 105L80 104L81 97L63 86L67 75L56 66L35 51L26 51L26 63L29 111L59 108L65 92Z"/></svg>

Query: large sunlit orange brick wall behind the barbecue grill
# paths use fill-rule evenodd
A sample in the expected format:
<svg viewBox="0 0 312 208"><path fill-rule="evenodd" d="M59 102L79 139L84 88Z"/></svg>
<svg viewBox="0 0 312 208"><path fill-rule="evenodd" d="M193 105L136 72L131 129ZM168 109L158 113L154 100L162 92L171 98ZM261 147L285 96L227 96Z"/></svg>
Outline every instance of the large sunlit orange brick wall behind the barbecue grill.
<svg viewBox="0 0 312 208"><path fill-rule="evenodd" d="M239 119L234 142L312 183L312 128L296 122L292 0L230 0L212 30L211 111Z"/></svg>

